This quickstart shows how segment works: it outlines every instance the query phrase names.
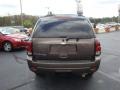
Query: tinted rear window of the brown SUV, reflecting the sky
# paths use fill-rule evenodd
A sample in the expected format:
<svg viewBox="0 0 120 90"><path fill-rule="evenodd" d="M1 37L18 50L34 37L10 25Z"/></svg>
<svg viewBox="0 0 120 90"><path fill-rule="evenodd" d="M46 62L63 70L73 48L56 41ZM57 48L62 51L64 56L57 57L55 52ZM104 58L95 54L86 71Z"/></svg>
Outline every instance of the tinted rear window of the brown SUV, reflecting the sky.
<svg viewBox="0 0 120 90"><path fill-rule="evenodd" d="M48 20L38 22L33 37L69 37L92 38L94 33L85 19Z"/></svg>

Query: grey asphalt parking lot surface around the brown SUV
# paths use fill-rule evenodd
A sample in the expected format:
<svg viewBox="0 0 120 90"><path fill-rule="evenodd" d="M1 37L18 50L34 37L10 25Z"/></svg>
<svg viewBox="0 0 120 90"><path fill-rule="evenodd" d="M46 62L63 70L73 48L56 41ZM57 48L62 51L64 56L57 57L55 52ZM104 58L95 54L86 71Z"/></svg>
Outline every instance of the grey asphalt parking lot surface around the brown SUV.
<svg viewBox="0 0 120 90"><path fill-rule="evenodd" d="M98 34L102 44L100 69L90 79L73 74L35 76L29 71L26 52L0 51L0 90L119 90L120 31Z"/></svg>

